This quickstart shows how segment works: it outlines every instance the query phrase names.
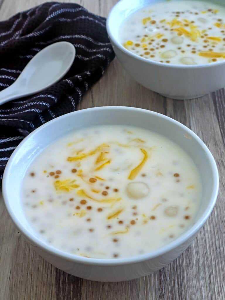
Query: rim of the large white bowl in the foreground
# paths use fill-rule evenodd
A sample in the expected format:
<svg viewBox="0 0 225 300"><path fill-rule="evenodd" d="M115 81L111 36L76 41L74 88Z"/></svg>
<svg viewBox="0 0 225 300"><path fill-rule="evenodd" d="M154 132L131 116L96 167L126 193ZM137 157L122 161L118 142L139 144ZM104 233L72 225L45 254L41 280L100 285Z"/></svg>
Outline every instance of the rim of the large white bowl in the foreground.
<svg viewBox="0 0 225 300"><path fill-rule="evenodd" d="M141 255L137 255L137 256L131 256L131 257L127 257L127 258L118 258L118 259L86 258L86 257L78 256L75 254L70 254L70 253L64 252L62 250L59 250L55 247L52 247L51 245L48 245L44 241L39 239L38 237L35 237L28 229L26 229L26 227L24 225L22 225L19 218L17 218L16 214L10 208L10 205L9 205L10 198L9 198L8 192L7 192L7 190L10 187L7 186L7 180L11 173L11 170L13 170L13 160L14 160L14 158L16 158L16 155L17 155L17 152L19 151L19 149L21 149L23 147L24 143L26 143L30 138L32 138L33 135L35 135L39 131L43 131L44 128L49 126L49 124L63 122L63 120L65 118L67 118L69 115L85 114L85 112L90 111L90 110L91 111L96 111L96 110L139 111L142 113L148 113L149 116L155 115L158 118L166 119L168 122L172 122L176 126L185 130L187 132L187 134L189 134L193 139L195 139L200 144L200 146L202 147L202 150L206 153L209 164L211 166L212 175L214 178L214 185L212 188L212 196L208 203L208 206L205 209L205 211L202 213L201 217L193 224L193 226L191 226L187 231L185 231L182 235L180 235L174 241L170 242L169 244L166 244L164 247L161 247L150 253L145 253L145 254L141 254ZM153 112L150 110L145 110L142 108L122 107L122 106L92 107L92 108L87 108L87 109L83 109L83 110L77 110L77 111L59 116L59 117L52 119L51 121L46 122L45 124L41 125L37 129L35 129L32 133L30 133L27 137L25 137L24 140L22 140L22 142L13 151L13 154L10 156L10 158L7 162L7 165L5 167L3 179L2 179L2 195L3 195L4 203L5 203L6 209L9 213L13 223L16 225L16 227L19 229L19 231L22 232L23 235L29 241L32 241L32 244L35 244L37 247L48 252L49 254L58 256L63 259L67 259L72 262L77 262L77 263L82 263L82 264L87 264L87 265L113 265L113 266L116 266L116 265L126 265L126 264L131 264L131 263L137 263L137 262L142 262L142 261L146 261L146 260L161 256L164 253L167 253L167 252L175 249L176 247L179 247L181 244L186 242L189 238L194 237L194 235L199 231L199 229L203 226L205 221L208 219L209 215L211 214L211 211L214 208L214 205L215 205L215 202L217 199L217 195L218 195L218 189L219 189L219 174L218 174L216 162L215 162L211 152L209 151L208 147L203 143L203 141L193 131L191 131L189 128L187 128L182 123L180 123L168 116L165 116L161 113L156 113L156 112Z"/></svg>

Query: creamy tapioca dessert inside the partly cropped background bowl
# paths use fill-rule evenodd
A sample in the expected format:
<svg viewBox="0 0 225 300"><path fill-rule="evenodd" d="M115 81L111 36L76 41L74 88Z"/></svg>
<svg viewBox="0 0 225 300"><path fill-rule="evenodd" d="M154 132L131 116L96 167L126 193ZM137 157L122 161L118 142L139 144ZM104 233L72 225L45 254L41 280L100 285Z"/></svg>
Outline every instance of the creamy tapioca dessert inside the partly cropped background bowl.
<svg viewBox="0 0 225 300"><path fill-rule="evenodd" d="M163 1L128 16L120 30L129 51L168 64L225 58L225 7L203 1Z"/></svg>

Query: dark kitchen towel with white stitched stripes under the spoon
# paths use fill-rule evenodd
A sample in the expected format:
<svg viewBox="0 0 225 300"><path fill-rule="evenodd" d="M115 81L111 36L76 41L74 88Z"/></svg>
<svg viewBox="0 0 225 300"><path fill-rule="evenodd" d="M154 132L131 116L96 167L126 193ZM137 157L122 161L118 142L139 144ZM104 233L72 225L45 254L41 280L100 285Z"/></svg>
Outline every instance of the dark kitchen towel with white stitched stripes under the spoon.
<svg viewBox="0 0 225 300"><path fill-rule="evenodd" d="M38 51L57 41L76 47L66 76L39 94L0 105L0 182L21 140L45 122L76 110L114 58L106 19L78 4L48 2L0 22L0 90L16 80Z"/></svg>

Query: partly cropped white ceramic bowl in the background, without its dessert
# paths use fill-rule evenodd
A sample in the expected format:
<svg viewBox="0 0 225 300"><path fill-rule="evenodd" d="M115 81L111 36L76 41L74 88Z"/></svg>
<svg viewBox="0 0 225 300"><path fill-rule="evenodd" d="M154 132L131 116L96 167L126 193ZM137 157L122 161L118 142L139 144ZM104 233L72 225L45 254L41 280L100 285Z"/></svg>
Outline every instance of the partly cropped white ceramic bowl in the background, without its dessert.
<svg viewBox="0 0 225 300"><path fill-rule="evenodd" d="M167 0L121 0L110 11L107 32L122 66L141 85L169 98L191 99L223 88L225 60L199 65L164 64L140 57L120 43L119 32L124 19L141 7L162 1ZM216 3L224 5L224 0Z"/></svg>

